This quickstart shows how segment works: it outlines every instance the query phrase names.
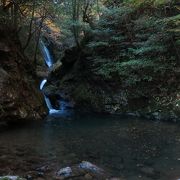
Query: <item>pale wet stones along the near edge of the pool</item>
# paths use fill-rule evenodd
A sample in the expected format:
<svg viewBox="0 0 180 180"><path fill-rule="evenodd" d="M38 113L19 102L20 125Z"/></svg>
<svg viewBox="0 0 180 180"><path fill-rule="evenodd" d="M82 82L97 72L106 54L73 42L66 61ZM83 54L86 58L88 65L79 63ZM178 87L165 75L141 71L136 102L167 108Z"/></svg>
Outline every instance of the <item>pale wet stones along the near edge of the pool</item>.
<svg viewBox="0 0 180 180"><path fill-rule="evenodd" d="M64 167L57 171L50 166L42 166L34 169L34 171L28 172L25 177L7 175L0 176L0 180L123 180L122 178L113 178L108 175L100 167L88 162L82 161L79 164L72 165L71 167Z"/></svg>

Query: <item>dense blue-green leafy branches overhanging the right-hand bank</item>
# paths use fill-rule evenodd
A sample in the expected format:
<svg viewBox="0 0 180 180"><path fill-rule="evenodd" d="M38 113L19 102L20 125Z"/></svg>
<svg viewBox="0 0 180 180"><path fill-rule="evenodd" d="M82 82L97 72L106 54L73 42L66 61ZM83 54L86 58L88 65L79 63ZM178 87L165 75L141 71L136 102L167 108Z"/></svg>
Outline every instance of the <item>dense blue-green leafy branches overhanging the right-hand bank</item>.
<svg viewBox="0 0 180 180"><path fill-rule="evenodd" d="M130 2L136 8L129 6ZM152 2L153 11L167 3ZM179 15L163 17L148 11L140 14L149 3L126 1L120 7L103 9L92 31L94 38L87 44L93 53L93 73L132 86L155 81L157 74L164 76L167 71L173 71L178 63ZM160 9L156 11L159 13Z"/></svg>

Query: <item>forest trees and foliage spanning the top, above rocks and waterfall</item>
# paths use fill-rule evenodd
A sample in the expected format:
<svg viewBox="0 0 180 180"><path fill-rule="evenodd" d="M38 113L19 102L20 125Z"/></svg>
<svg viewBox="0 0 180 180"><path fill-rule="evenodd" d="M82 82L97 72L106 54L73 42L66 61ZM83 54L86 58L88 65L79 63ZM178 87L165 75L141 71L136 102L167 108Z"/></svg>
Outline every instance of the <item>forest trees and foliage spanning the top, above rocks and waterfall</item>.
<svg viewBox="0 0 180 180"><path fill-rule="evenodd" d="M1 0L0 9L1 28L14 29L26 54L31 59L34 54L35 64L40 39L48 42L47 32L54 30L59 34L55 41L67 44L64 50L75 47L70 50L75 53L72 62L81 66L76 75L85 78L91 74L90 84L97 79L113 82L126 99L143 97L166 106L170 96L173 105L179 103L177 0ZM76 88L73 96L80 99L76 92L83 88ZM98 94L99 90L86 88L83 94L88 98L82 97L82 101L86 99L96 107L98 97L91 93Z"/></svg>

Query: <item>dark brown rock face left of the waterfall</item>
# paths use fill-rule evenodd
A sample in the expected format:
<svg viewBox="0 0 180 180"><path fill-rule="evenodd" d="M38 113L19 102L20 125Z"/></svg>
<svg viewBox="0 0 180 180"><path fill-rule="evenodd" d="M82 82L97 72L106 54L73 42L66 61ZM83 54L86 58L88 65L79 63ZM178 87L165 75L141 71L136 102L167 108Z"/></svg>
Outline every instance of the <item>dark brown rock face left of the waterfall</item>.
<svg viewBox="0 0 180 180"><path fill-rule="evenodd" d="M37 120L47 111L33 65L15 37L0 30L0 122Z"/></svg>

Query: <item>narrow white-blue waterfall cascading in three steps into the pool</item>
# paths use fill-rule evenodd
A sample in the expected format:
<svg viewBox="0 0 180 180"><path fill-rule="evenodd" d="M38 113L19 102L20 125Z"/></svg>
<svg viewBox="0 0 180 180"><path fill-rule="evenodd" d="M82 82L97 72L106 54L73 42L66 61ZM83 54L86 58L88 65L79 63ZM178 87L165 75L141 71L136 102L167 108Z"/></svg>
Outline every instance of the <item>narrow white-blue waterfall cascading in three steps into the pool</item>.
<svg viewBox="0 0 180 180"><path fill-rule="evenodd" d="M46 65L48 66L48 68L51 68L53 66L53 58L52 58L48 48L46 47L45 43L42 40L40 40L40 49L41 49L41 52L42 52L42 55L43 55ZM46 83L47 83L47 79L44 79L41 81L41 84L40 84L41 91L43 90L43 87L45 86ZM52 107L50 99L45 94L44 94L44 99L45 99L46 105L49 109L49 114L54 114L54 113L64 114L65 113L65 107L66 107L65 101L59 102L61 108L59 110L56 110Z"/></svg>

